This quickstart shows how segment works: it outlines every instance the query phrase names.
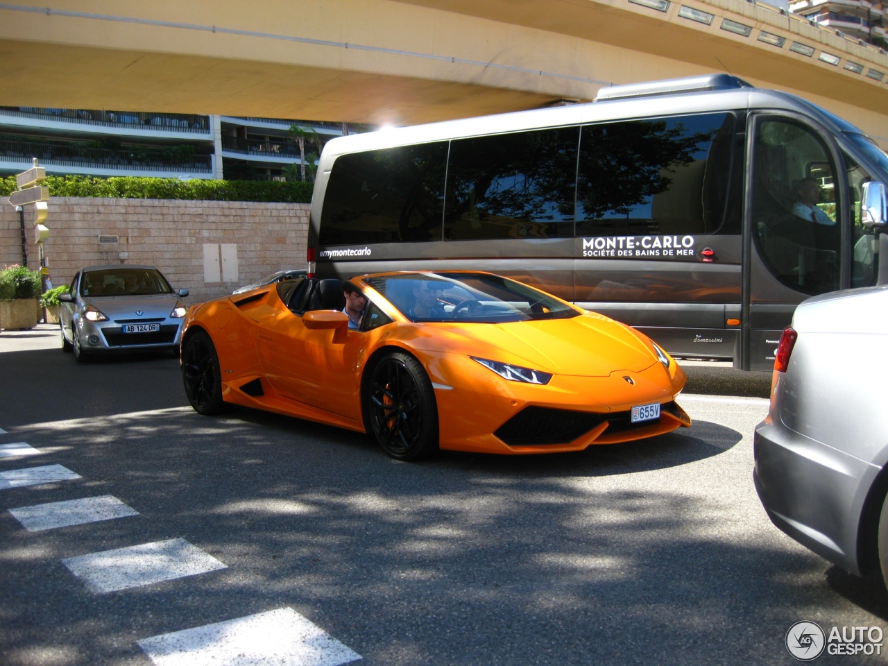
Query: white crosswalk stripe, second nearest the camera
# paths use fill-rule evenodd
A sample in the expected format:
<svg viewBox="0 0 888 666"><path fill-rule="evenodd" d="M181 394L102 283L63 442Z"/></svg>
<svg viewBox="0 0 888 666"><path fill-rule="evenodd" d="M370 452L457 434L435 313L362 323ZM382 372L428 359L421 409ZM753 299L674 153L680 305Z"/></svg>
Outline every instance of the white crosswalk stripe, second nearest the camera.
<svg viewBox="0 0 888 666"><path fill-rule="evenodd" d="M185 539L142 543L61 561L99 594L228 568Z"/></svg>

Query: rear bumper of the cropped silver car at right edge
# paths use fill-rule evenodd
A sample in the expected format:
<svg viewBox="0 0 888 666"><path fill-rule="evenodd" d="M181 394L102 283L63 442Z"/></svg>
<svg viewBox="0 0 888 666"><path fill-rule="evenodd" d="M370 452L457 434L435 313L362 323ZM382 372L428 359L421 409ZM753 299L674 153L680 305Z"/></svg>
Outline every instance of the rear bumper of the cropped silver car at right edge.
<svg viewBox="0 0 888 666"><path fill-rule="evenodd" d="M879 468L766 421L757 425L753 446L753 480L773 524L860 575L860 514Z"/></svg>

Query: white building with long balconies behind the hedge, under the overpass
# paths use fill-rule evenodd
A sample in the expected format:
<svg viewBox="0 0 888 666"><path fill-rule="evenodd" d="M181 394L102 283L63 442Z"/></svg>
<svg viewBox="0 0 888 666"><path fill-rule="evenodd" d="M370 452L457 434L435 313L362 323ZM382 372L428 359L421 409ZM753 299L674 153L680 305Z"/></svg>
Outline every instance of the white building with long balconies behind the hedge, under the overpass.
<svg viewBox="0 0 888 666"><path fill-rule="evenodd" d="M347 131L269 118L0 107L0 176L27 170L36 157L53 176L299 178L293 124L305 132L306 163Z"/></svg>

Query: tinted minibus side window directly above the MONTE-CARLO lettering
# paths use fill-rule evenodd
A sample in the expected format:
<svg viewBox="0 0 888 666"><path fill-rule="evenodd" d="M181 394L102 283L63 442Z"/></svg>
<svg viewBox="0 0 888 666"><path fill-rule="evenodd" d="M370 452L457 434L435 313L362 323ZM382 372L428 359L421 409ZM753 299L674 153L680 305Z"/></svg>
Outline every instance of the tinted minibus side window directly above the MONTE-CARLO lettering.
<svg viewBox="0 0 888 666"><path fill-rule="evenodd" d="M583 127L577 234L708 234L721 225L733 114Z"/></svg>

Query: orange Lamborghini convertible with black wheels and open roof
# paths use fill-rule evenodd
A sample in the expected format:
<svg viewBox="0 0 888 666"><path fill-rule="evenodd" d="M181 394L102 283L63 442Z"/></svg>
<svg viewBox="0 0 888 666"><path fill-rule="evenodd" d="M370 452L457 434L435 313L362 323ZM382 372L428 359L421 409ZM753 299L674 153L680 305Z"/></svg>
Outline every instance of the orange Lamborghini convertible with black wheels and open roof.
<svg viewBox="0 0 888 666"><path fill-rule="evenodd" d="M488 273L305 278L195 305L181 359L201 414L234 403L368 432L400 460L691 424L675 401L685 373L649 338Z"/></svg>

